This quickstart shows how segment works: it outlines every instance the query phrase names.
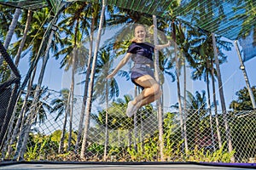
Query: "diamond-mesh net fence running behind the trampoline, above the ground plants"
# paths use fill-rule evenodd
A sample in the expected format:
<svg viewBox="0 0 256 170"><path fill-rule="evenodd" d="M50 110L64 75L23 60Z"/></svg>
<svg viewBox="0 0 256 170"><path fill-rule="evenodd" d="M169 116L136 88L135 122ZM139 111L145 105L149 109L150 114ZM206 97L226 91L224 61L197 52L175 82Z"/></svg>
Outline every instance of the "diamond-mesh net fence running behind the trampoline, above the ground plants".
<svg viewBox="0 0 256 170"><path fill-rule="evenodd" d="M95 100L84 144L84 120L79 129L82 96L74 97L71 114L67 111L68 95L63 91L44 88L37 103L32 102L32 94L27 100L21 97L15 108L2 145L4 160L255 162L255 111L229 111L225 121L223 114L214 111L183 111L181 119L175 109L163 108L159 138L155 106L147 105L129 118L125 116L125 100L109 103L108 108ZM26 108L22 108L24 103Z"/></svg>

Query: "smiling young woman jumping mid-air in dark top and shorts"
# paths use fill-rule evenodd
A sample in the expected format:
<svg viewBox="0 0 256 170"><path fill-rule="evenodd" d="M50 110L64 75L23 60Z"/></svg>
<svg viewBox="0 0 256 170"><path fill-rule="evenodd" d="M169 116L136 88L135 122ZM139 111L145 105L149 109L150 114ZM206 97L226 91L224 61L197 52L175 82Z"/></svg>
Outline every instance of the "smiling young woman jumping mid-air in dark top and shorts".
<svg viewBox="0 0 256 170"><path fill-rule="evenodd" d="M145 42L147 31L143 25L135 26L134 32L135 37L131 40L131 45L127 50L127 54L125 54L125 57L121 59L119 65L117 65L113 72L107 77L114 77L119 69L122 68L130 58L134 62L134 65L131 68L131 82L143 88L143 91L128 103L126 115L129 117L133 116L143 105L148 105L156 99L160 99L162 93L160 91L159 83L154 79L153 71L154 49L160 50L171 45L171 42L156 46L149 42Z"/></svg>

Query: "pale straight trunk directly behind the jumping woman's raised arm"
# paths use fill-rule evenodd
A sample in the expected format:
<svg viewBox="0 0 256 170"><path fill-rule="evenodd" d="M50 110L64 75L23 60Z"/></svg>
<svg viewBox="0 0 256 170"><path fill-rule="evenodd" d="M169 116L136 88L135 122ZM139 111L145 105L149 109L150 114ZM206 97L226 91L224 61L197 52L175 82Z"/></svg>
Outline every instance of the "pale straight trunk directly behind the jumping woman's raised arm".
<svg viewBox="0 0 256 170"><path fill-rule="evenodd" d="M154 24L154 45L158 44L157 39L157 19L156 16L153 15L153 24ZM154 51L154 77L156 82L160 82L159 78L159 53L158 51ZM165 161L164 157L164 138L163 138L163 112L161 99L156 101L156 105L158 108L158 128L159 128L159 141L160 141L160 161Z"/></svg>

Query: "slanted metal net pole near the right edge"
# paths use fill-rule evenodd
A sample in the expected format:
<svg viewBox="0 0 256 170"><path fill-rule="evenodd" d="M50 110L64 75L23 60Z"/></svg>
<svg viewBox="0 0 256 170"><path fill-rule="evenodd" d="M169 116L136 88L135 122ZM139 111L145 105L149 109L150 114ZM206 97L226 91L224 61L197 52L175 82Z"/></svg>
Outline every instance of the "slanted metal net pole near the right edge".
<svg viewBox="0 0 256 170"><path fill-rule="evenodd" d="M237 52L237 55L238 55L238 58L239 58L239 61L240 61L240 64L241 64L240 69L243 72L243 77L244 77L244 80L247 84L247 89L248 89L250 99L251 99L252 104L253 104L253 109L255 110L256 109L256 103L255 103L255 99L254 99L254 96L253 96L253 90L250 86L250 82L249 82L249 79L247 77L247 71L245 69L245 65L243 64L243 61L241 59L241 53L240 53L240 50L239 50L239 47L238 47L238 44L237 44L237 40L235 41L235 46L236 46L236 52Z"/></svg>

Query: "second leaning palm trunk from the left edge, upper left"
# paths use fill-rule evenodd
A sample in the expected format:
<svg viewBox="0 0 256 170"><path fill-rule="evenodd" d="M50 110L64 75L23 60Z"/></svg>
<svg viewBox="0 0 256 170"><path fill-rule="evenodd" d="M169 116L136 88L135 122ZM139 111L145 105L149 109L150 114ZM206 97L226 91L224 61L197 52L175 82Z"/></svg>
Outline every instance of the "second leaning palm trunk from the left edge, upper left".
<svg viewBox="0 0 256 170"><path fill-rule="evenodd" d="M18 66L19 62L20 62L20 55L21 55L22 49L24 47L24 44L26 42L26 35L27 35L27 32L29 31L31 20L32 20L32 10L28 10L25 30L23 32L23 37L21 39L20 46L18 48L18 52L17 52L16 58L15 58L15 65L16 66Z"/></svg>

